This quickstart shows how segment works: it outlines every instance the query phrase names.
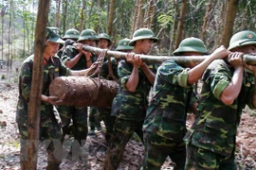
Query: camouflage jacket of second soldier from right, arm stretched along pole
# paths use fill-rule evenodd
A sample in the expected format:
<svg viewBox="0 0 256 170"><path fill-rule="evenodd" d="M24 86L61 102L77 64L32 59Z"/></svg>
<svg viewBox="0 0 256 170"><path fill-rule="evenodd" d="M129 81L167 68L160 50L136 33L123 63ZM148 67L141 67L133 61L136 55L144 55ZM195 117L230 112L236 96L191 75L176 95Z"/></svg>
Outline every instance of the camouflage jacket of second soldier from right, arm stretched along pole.
<svg viewBox="0 0 256 170"><path fill-rule="evenodd" d="M188 108L192 102L196 102L192 85L187 83L188 71L189 69L179 66L174 60L166 60L160 65L143 131L182 142L187 131Z"/></svg>

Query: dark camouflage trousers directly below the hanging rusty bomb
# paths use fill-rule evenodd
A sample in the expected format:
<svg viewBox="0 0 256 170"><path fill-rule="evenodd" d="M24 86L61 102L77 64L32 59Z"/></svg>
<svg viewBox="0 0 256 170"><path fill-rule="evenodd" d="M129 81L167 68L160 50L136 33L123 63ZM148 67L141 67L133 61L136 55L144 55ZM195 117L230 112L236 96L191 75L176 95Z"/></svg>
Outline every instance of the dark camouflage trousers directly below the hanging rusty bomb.
<svg viewBox="0 0 256 170"><path fill-rule="evenodd" d="M62 119L64 135L73 133L75 140L80 144L84 143L88 133L87 107L59 106L58 111ZM70 127L71 120L72 127Z"/></svg>

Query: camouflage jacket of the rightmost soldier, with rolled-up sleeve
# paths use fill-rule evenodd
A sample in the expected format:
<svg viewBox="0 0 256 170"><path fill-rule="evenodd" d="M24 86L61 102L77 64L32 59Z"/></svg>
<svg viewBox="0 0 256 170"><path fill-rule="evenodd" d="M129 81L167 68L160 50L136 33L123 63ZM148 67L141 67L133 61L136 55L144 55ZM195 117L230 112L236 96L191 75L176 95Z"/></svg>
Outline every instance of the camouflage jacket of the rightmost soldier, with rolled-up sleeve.
<svg viewBox="0 0 256 170"><path fill-rule="evenodd" d="M220 100L221 93L229 86L233 72L222 59L211 62L205 71L198 117L184 137L187 144L191 142L224 156L232 153L242 110L246 105L254 109L254 76L248 71L244 73L241 92L233 104L228 106Z"/></svg>

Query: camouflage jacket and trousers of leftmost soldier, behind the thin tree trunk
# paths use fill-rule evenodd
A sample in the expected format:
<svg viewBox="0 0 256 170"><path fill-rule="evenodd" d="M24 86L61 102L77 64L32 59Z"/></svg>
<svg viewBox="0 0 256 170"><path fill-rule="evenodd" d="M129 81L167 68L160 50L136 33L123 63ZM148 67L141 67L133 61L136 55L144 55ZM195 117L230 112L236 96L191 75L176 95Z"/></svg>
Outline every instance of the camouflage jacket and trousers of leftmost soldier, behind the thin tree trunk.
<svg viewBox="0 0 256 170"><path fill-rule="evenodd" d="M16 112L16 122L21 136L21 152L20 161L22 169L26 169L27 164L27 127L28 127L28 102L29 93L31 88L32 69L33 69L34 55L28 57L22 65L19 76L19 100ZM50 82L57 76L68 76L70 70L66 68L58 57L51 57L44 61L44 81L43 81L43 94L48 95L48 87ZM54 140L58 140L62 145L62 131L61 126L58 124L57 115L54 114L54 106L42 101L40 112L40 141L49 140L46 145L47 150L47 167L46 169L59 169L59 164L62 161L62 148L54 150L57 145L53 144ZM57 141L57 142L58 142ZM59 146L60 146L59 145Z"/></svg>

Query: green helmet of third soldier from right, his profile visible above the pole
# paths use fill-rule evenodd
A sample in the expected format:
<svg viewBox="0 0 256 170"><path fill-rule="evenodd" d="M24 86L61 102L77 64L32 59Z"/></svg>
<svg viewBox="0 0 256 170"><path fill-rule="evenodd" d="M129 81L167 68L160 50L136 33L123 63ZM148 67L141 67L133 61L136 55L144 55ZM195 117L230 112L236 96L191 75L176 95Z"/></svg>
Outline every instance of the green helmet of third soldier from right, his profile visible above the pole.
<svg viewBox="0 0 256 170"><path fill-rule="evenodd" d="M157 42L158 39L155 37L154 32L148 28L140 28L134 32L133 39L129 42L129 45L134 46L137 40L151 39Z"/></svg>

